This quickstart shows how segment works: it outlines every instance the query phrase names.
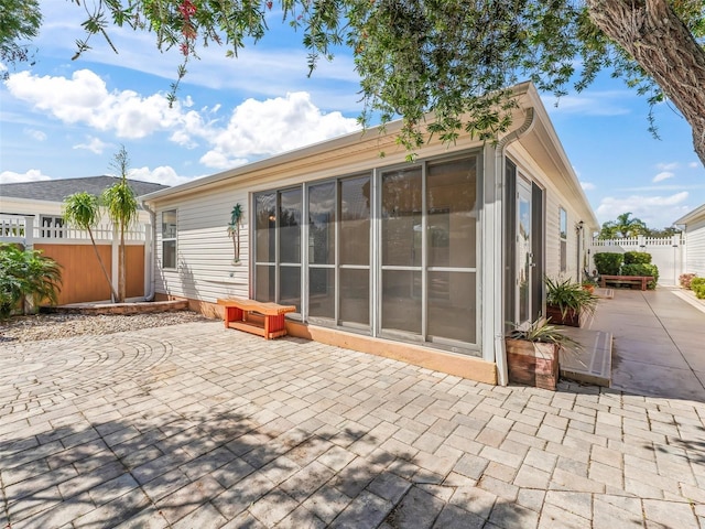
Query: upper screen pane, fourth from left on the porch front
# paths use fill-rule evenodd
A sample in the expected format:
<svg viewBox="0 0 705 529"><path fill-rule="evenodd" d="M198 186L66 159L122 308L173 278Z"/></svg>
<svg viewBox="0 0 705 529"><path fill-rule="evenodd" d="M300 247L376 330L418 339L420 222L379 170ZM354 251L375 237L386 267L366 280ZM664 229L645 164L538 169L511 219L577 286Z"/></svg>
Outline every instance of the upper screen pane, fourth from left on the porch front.
<svg viewBox="0 0 705 529"><path fill-rule="evenodd" d="M370 264L370 179L340 182L340 264Z"/></svg>

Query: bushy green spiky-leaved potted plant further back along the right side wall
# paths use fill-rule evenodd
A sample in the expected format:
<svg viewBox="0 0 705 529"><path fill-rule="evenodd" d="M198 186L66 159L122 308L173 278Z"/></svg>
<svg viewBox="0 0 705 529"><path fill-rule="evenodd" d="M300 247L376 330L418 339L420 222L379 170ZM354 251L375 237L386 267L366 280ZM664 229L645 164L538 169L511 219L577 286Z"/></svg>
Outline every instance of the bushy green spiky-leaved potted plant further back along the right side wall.
<svg viewBox="0 0 705 529"><path fill-rule="evenodd" d="M571 279L545 279L546 317L553 323L579 327L581 319L595 312L598 298Z"/></svg>

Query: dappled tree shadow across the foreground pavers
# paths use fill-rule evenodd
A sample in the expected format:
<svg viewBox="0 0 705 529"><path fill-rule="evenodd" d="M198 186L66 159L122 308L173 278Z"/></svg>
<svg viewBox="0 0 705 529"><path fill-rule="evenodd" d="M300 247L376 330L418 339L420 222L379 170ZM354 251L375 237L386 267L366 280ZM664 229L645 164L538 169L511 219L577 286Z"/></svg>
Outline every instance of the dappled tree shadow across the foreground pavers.
<svg viewBox="0 0 705 529"><path fill-rule="evenodd" d="M474 501L475 487L444 485L444 476L403 451L383 451L369 432L292 429L274 413L260 423L265 415L160 407L36 435L19 431L0 442L2 527L217 528L235 520L446 529L487 520L519 527L527 512L538 516L501 498ZM369 454L356 456L356 446Z"/></svg>

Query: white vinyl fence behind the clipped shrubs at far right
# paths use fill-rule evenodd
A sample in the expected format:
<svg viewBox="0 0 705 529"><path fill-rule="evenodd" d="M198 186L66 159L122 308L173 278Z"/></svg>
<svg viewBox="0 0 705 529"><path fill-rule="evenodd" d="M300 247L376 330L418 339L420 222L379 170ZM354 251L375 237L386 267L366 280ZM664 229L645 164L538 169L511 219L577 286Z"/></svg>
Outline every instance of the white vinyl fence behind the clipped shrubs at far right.
<svg viewBox="0 0 705 529"><path fill-rule="evenodd" d="M631 237L628 239L593 239L589 247L590 271L595 270L595 253L627 251L646 251L651 253L651 262L659 267L659 284L677 285L679 276L683 273L683 256L685 238L681 235L673 237Z"/></svg>

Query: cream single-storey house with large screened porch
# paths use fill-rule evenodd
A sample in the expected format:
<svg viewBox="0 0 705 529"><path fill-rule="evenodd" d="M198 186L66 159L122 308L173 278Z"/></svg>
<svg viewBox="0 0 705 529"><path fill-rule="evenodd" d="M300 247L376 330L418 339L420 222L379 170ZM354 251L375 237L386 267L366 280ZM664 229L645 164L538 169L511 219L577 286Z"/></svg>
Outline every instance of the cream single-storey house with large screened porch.
<svg viewBox="0 0 705 529"><path fill-rule="evenodd" d="M507 322L544 312L544 276L579 279L598 228L536 89L514 93L497 145L465 134L411 163L391 123L141 197L158 299L291 304L294 336L506 384Z"/></svg>

